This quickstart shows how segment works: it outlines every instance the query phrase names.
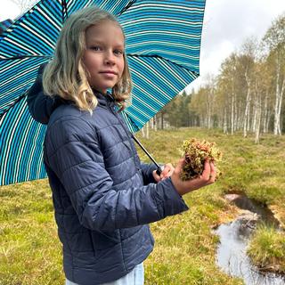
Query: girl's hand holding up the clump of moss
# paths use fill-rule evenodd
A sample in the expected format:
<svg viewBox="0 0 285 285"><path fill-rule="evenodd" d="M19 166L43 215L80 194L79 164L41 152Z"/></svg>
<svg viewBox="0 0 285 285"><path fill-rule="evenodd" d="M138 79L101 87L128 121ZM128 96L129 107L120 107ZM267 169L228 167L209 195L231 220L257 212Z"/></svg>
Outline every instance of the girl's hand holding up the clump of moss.
<svg viewBox="0 0 285 285"><path fill-rule="evenodd" d="M197 190L201 187L215 183L216 181L216 168L213 162L205 161L204 170L202 175L198 178L183 181L180 178L180 174L183 168L184 159L180 159L173 175L171 175L171 181L175 186L176 191L182 196L191 191Z"/></svg>

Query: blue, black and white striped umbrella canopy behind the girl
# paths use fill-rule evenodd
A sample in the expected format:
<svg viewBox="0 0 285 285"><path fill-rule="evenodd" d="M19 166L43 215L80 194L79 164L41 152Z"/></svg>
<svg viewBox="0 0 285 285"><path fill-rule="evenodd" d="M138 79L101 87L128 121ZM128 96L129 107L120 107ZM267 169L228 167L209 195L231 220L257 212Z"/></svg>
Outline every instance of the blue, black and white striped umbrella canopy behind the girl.
<svg viewBox="0 0 285 285"><path fill-rule="evenodd" d="M45 126L28 112L26 94L51 60L62 22L95 4L118 17L134 82L123 116L136 132L199 76L206 0L42 0L0 38L0 185L46 177Z"/></svg>

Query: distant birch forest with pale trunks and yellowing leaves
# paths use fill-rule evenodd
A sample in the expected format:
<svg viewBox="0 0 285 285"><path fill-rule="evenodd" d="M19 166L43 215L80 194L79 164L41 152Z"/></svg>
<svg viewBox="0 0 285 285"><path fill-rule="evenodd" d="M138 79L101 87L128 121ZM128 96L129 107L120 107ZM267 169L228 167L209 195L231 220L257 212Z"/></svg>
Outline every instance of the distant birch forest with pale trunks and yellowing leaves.
<svg viewBox="0 0 285 285"><path fill-rule="evenodd" d="M199 91L179 94L151 121L152 127L216 127L224 133L285 132L285 14L258 42L248 38L216 77ZM146 126L148 127L148 126Z"/></svg>

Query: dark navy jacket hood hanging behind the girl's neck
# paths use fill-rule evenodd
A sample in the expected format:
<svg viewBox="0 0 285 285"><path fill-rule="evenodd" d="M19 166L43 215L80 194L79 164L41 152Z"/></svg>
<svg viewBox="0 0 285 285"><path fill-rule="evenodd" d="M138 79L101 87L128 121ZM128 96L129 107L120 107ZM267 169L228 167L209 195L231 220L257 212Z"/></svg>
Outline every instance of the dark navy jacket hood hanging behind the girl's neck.
<svg viewBox="0 0 285 285"><path fill-rule="evenodd" d="M31 116L39 123L47 124L53 110L64 101L59 96L48 96L43 91L43 72L45 64L41 65L37 72L35 83L29 88L27 94L28 110Z"/></svg>

